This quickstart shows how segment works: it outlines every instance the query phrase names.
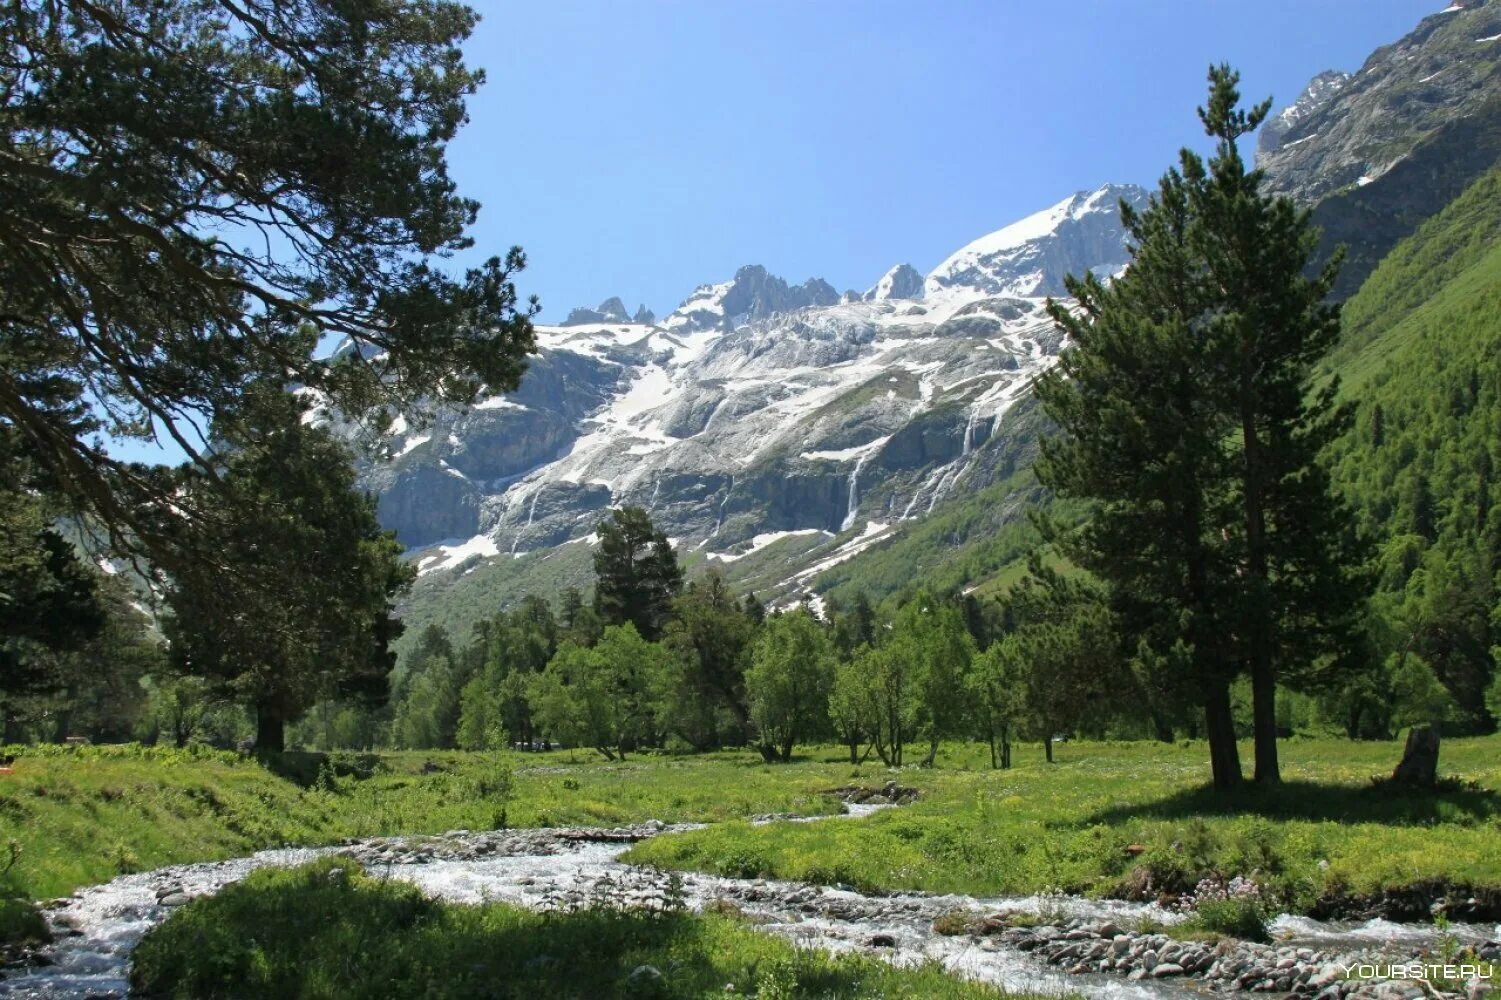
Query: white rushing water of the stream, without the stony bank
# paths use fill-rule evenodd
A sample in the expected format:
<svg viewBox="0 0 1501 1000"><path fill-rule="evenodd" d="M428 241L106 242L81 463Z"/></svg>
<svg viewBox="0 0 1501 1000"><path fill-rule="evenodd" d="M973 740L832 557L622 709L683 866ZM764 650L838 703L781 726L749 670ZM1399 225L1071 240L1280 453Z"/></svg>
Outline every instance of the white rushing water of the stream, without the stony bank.
<svg viewBox="0 0 1501 1000"><path fill-rule="evenodd" d="M850 805L859 818L880 806ZM787 821L769 818L767 821ZM1202 994L1192 977L1127 980L1106 973L1066 974L1058 965L1018 950L995 937L946 937L932 929L943 914L977 916L1027 911L1048 923L1069 920L1133 925L1150 917L1178 917L1150 904L1082 898L1030 896L977 899L923 893L862 895L847 887L684 874L672 877L618 860L630 842L660 832L690 829L647 824L627 830L525 830L443 838L392 838L347 847L273 850L225 862L176 865L122 875L83 889L50 910L59 931L50 965L0 980L0 997L123 997L131 950L150 928L188 898L210 895L263 866L300 865L329 853L350 854L377 874L401 878L423 892L464 904L509 902L537 910L588 905L675 907L702 910L734 904L760 926L799 946L832 952L862 950L895 962L941 961L949 968L1009 989L1082 992L1106 1000L1168 1000ZM1343 949L1418 947L1433 929L1373 920L1361 925L1279 917L1274 929L1292 946ZM1492 928L1459 926L1463 941L1483 941Z"/></svg>

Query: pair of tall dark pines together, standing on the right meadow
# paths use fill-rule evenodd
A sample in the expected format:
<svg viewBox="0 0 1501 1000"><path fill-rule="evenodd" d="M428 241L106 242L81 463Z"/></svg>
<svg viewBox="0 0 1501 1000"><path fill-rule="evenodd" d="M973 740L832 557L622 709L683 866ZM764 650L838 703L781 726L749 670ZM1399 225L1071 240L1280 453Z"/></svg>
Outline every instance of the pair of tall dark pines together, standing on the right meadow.
<svg viewBox="0 0 1501 1000"><path fill-rule="evenodd" d="M1369 584L1319 465L1351 416L1337 383L1312 387L1339 336L1337 258L1307 276L1309 215L1262 194L1238 150L1270 102L1240 110L1237 84L1210 71L1214 156L1183 150L1145 212L1123 206L1126 275L1070 281L1079 308L1051 306L1073 347L1039 386L1064 431L1040 476L1099 503L1052 538L1111 584L1144 673L1198 694L1220 787L1240 779L1229 680L1250 674L1256 778L1274 782L1277 677L1327 685L1357 665Z"/></svg>

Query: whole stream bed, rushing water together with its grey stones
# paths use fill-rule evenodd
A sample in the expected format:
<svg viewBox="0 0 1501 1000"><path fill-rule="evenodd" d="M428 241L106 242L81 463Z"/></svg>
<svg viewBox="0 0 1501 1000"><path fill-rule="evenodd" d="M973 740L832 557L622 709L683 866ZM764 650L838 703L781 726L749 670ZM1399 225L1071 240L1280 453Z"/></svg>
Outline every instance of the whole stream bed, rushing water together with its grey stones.
<svg viewBox="0 0 1501 1000"><path fill-rule="evenodd" d="M857 818L887 803L848 805ZM317 850L177 865L122 875L48 905L56 941L50 964L0 980L0 997L60 1000L123 997L131 950L186 902L267 865L326 854L372 874L410 881L450 902L509 902L534 910L587 907L687 908L738 913L770 934L833 952L860 950L893 962L937 959L950 970L1012 991L1082 992L1105 998L1169 998L1205 991L1316 1000L1418 1000L1484 992L1486 983L1348 977L1360 964L1427 961L1445 947L1501 958L1501 929L1385 920L1279 917L1276 941L1178 941L1183 916L1150 902L1028 896L982 899L911 892L860 893L766 878L663 872L627 865L635 842L693 829L657 821L630 827L450 830L443 836L372 838ZM1022 925L1025 923L1025 926ZM958 931L958 932L955 932Z"/></svg>

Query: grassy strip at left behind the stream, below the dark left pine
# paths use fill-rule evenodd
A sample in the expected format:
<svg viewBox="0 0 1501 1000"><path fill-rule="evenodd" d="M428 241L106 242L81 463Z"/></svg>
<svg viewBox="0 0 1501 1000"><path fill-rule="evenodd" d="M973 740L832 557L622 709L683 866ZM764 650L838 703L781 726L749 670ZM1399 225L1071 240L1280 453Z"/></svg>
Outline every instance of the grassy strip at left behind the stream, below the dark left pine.
<svg viewBox="0 0 1501 1000"><path fill-rule="evenodd" d="M20 856L0 874L0 895L26 898L162 865L350 836L839 809L820 794L829 787L821 773L766 767L747 754L605 764L593 752L267 760L141 746L5 752L17 761L14 775L0 776L0 845L14 844Z"/></svg>

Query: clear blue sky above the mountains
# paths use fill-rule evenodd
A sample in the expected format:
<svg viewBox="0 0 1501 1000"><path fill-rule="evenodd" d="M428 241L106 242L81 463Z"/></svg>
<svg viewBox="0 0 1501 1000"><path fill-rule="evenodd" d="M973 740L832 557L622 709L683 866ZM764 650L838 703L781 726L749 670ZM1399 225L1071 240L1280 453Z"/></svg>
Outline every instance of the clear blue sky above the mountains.
<svg viewBox="0 0 1501 1000"><path fill-rule="evenodd" d="M618 294L668 312L746 263L865 290L1198 138L1211 62L1247 98L1358 69L1420 0L494 3L452 149L542 320Z"/></svg>

